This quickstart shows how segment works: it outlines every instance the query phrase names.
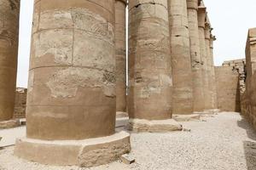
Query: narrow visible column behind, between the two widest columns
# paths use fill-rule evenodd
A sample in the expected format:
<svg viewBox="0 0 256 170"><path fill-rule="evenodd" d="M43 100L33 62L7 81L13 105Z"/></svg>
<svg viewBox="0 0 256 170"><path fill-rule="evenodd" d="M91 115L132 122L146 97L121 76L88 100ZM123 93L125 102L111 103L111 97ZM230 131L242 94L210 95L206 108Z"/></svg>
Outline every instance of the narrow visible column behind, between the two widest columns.
<svg viewBox="0 0 256 170"><path fill-rule="evenodd" d="M126 111L126 0L115 0L116 111Z"/></svg>

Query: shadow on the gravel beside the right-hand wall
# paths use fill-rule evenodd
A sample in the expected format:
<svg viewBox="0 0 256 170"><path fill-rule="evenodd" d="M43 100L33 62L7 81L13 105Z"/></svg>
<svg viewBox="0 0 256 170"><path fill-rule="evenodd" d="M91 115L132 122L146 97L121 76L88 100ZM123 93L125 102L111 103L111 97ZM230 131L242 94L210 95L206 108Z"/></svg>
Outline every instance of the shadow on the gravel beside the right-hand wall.
<svg viewBox="0 0 256 170"><path fill-rule="evenodd" d="M253 141L243 141L244 154L247 161L247 170L256 170L256 132L253 125L245 117L237 121L237 125L247 131L247 137Z"/></svg>

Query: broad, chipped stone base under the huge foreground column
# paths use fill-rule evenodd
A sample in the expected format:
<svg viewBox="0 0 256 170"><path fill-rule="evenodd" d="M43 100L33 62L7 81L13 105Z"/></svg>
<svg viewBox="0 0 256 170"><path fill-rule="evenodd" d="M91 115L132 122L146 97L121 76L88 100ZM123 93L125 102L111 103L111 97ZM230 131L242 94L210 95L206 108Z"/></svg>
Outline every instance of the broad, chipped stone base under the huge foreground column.
<svg viewBox="0 0 256 170"><path fill-rule="evenodd" d="M15 156L55 166L96 167L115 161L131 150L130 134L84 140L17 139Z"/></svg>

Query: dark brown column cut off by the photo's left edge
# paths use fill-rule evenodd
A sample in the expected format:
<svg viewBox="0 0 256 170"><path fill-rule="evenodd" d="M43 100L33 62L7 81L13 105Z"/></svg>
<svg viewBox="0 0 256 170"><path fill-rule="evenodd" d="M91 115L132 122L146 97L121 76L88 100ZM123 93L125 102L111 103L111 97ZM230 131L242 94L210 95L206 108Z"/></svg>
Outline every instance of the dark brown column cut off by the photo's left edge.
<svg viewBox="0 0 256 170"><path fill-rule="evenodd" d="M13 117L20 0L0 0L0 122Z"/></svg>

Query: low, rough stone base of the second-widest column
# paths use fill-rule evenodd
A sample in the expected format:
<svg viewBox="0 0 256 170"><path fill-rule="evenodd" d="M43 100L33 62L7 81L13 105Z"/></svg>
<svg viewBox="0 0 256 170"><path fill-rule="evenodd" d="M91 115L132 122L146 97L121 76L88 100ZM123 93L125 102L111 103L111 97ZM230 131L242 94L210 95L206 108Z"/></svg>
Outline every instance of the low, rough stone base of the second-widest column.
<svg viewBox="0 0 256 170"><path fill-rule="evenodd" d="M165 133L182 131L183 126L173 119L148 121L145 119L130 119L127 129L137 133Z"/></svg>

